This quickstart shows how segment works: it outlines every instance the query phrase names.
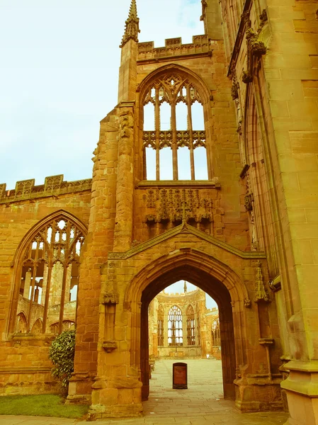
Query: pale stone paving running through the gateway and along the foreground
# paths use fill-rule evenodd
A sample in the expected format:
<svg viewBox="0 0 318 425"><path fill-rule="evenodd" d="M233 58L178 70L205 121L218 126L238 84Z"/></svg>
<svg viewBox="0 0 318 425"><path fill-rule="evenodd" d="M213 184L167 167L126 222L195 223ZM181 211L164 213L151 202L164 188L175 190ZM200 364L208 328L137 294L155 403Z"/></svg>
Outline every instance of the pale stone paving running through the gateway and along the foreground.
<svg viewBox="0 0 318 425"><path fill-rule="evenodd" d="M173 360L157 361L150 381L144 416L104 419L98 425L283 425L288 414L264 412L241 414L234 403L223 399L221 361L186 360L188 390L172 389ZM1 416L1 425L67 425L74 419Z"/></svg>

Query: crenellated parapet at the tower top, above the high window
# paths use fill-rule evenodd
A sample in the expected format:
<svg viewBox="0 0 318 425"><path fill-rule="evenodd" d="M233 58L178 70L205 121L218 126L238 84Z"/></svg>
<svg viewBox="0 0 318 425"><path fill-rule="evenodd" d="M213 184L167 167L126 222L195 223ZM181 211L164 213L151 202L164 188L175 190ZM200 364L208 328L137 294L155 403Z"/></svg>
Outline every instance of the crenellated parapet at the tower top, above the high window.
<svg viewBox="0 0 318 425"><path fill-rule="evenodd" d="M164 47L154 47L153 41L138 43L137 60L151 60L162 57L197 55L210 52L208 35L193 35L192 43L182 44L181 37L166 38Z"/></svg>

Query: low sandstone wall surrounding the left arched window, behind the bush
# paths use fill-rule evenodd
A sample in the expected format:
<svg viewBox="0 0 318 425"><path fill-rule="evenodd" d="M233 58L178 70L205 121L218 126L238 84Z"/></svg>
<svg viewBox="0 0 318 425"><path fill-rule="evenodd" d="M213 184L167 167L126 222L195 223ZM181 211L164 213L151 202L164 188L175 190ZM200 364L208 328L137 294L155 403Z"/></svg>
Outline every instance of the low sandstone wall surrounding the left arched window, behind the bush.
<svg viewBox="0 0 318 425"><path fill-rule="evenodd" d="M46 182L50 178L46 179ZM12 310L15 285L20 287L18 264L21 259L16 256L18 246L33 226L54 212L63 210L76 217L84 225L89 222L89 203L91 198L91 181L63 182L58 187L28 186L28 191L21 189L18 182L15 191L3 192L0 198L0 377L1 394L36 393L56 390L52 380L51 362L47 358L52 336L25 335L8 333L9 325L15 322ZM25 183L25 182L23 182ZM23 185L22 185L23 186ZM25 184L24 184L25 186ZM61 188L62 186L62 188ZM72 189L69 188L72 186ZM19 275L20 276L20 275ZM27 307L29 301L22 302ZM42 306L38 306L42 309ZM36 316L37 309L33 310ZM74 315L74 313L73 313ZM34 316L34 319L35 319Z"/></svg>

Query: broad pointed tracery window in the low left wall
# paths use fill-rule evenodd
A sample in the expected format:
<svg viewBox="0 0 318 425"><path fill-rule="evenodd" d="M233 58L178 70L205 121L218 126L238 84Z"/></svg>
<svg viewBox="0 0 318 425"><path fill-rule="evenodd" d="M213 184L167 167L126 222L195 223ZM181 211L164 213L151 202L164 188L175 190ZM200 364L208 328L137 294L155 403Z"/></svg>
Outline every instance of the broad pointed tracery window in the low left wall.
<svg viewBox="0 0 318 425"><path fill-rule="evenodd" d="M76 319L83 228L61 213L46 220L26 239L17 259L19 288L11 330L60 333L65 323Z"/></svg>

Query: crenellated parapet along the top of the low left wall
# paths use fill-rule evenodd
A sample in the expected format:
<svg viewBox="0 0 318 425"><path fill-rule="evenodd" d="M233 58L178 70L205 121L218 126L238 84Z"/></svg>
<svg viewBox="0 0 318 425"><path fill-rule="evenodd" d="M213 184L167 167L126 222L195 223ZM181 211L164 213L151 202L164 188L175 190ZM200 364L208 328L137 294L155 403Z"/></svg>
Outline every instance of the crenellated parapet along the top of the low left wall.
<svg viewBox="0 0 318 425"><path fill-rule="evenodd" d="M64 181L63 179L63 174L48 176L45 177L45 183L39 186L35 186L35 179L21 180L16 182L16 188L11 191L6 190L6 183L1 183L0 203L91 190L91 179L77 181Z"/></svg>

